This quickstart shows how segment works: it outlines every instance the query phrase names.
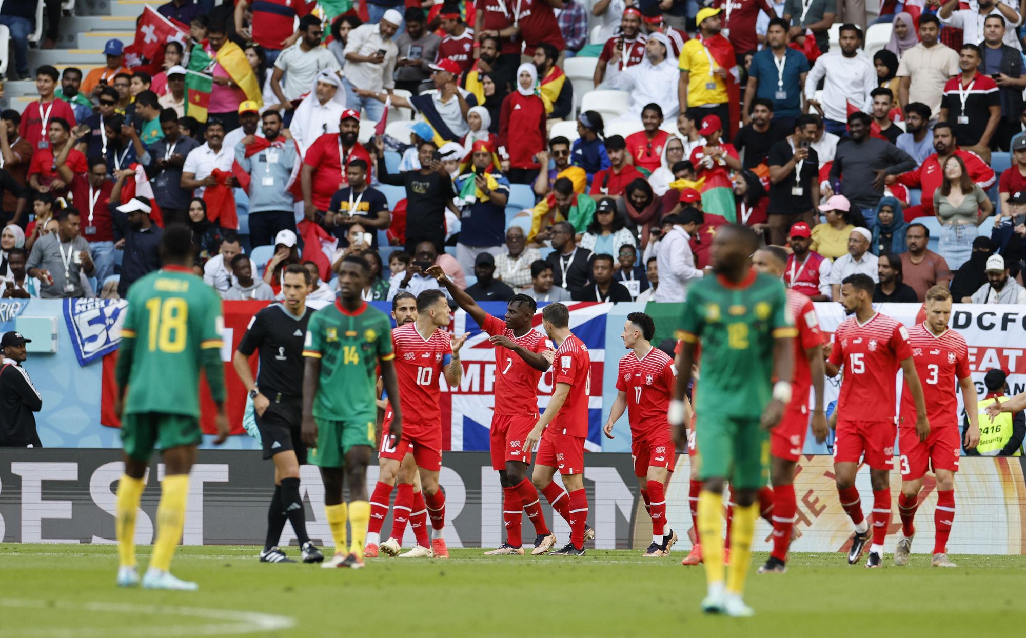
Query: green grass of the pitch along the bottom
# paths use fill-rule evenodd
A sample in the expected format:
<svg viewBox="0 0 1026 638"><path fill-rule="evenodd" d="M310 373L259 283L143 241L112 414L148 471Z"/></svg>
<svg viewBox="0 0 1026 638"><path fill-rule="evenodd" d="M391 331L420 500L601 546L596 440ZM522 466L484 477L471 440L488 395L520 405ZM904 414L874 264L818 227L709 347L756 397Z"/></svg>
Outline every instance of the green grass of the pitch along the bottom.
<svg viewBox="0 0 1026 638"><path fill-rule="evenodd" d="M149 550L141 548L144 567ZM1024 556L952 556L959 568L949 570L931 569L925 555L907 567L887 556L886 568L870 571L840 554L796 554L786 574L757 575L765 559L757 555L746 596L757 615L741 621L699 611L705 574L680 566L680 553L491 558L453 550L448 561L380 558L348 571L261 564L256 552L180 548L174 573L200 584L180 593L116 588L114 546L0 545L0 636L974 638L1026 627ZM294 626L258 634L255 613Z"/></svg>

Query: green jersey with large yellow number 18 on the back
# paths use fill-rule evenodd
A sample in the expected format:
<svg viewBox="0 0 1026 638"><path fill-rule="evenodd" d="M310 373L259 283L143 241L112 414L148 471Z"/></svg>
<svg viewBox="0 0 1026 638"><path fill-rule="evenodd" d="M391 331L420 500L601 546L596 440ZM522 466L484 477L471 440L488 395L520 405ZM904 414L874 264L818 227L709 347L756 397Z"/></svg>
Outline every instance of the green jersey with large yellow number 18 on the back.
<svg viewBox="0 0 1026 638"><path fill-rule="evenodd" d="M225 399L221 296L191 270L164 267L132 284L121 328L118 385L125 413L199 417L199 371L214 401Z"/></svg>

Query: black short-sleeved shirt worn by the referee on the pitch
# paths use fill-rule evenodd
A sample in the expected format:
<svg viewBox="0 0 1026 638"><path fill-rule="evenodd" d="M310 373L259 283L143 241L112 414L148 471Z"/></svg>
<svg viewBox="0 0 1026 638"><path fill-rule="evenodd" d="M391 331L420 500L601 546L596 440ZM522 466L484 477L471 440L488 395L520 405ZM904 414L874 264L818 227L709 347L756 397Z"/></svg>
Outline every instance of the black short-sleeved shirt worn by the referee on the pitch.
<svg viewBox="0 0 1026 638"><path fill-rule="evenodd" d="M307 307L297 319L281 304L273 304L249 322L239 352L248 357L260 351L256 386L265 397L273 400L279 392L294 399L303 396L303 340L313 314Z"/></svg>

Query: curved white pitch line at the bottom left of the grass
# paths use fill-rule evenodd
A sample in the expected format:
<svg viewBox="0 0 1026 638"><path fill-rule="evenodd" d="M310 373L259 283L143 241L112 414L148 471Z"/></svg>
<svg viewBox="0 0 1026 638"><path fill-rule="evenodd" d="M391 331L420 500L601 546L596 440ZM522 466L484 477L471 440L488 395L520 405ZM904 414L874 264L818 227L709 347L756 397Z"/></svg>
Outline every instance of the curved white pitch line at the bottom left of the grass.
<svg viewBox="0 0 1026 638"><path fill-rule="evenodd" d="M96 613L143 613L160 615L181 615L187 617L208 619L221 621L205 625L188 625L173 627L156 625L154 627L132 627L132 636L153 636L154 638L171 638L176 636L232 636L245 633L265 633L295 627L295 619L287 615L272 615L256 611L236 609L213 609L209 607L184 607L177 605L151 605L122 602L81 602L68 603L53 600L37 600L31 598L0 598L0 607L22 607L34 609L80 609ZM18 630L18 636L31 638L107 638L111 628L69 628L69 629L37 629Z"/></svg>

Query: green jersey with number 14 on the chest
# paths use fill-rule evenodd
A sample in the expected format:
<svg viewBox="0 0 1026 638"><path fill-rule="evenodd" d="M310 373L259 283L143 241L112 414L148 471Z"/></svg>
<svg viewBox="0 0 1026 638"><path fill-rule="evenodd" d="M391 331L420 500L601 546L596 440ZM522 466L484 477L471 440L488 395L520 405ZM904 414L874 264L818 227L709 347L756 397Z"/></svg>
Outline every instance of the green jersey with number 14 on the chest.
<svg viewBox="0 0 1026 638"><path fill-rule="evenodd" d="M304 357L321 360L320 385L314 397L314 417L373 422L378 360L389 361L392 320L363 303L349 312L337 301L310 317Z"/></svg>

